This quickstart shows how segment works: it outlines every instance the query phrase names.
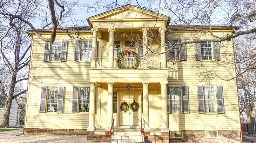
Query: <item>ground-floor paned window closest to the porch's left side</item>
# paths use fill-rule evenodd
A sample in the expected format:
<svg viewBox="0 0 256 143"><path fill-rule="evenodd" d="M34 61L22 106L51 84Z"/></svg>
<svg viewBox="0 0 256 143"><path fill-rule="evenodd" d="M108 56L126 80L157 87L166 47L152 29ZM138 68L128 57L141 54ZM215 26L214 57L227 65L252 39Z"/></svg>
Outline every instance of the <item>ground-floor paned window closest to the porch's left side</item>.
<svg viewBox="0 0 256 143"><path fill-rule="evenodd" d="M80 87L79 89L79 112L89 112L90 87Z"/></svg>

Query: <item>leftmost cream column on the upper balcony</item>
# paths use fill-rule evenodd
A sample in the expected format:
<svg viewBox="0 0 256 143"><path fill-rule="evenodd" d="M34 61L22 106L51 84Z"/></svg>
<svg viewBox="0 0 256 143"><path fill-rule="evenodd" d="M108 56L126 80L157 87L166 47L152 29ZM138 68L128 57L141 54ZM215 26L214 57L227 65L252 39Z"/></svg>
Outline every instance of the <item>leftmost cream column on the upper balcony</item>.
<svg viewBox="0 0 256 143"><path fill-rule="evenodd" d="M92 41L92 62L91 62L91 68L90 69L96 69L96 52L97 52L97 31L99 29L93 28L93 41Z"/></svg>

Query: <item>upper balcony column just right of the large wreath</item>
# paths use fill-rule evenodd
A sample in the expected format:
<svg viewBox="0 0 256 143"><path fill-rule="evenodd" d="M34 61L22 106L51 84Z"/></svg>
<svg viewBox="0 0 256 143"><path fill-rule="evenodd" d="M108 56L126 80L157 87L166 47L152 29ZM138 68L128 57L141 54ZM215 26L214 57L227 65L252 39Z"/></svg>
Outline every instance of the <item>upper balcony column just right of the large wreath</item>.
<svg viewBox="0 0 256 143"><path fill-rule="evenodd" d="M143 69L148 69L148 27L143 27Z"/></svg>

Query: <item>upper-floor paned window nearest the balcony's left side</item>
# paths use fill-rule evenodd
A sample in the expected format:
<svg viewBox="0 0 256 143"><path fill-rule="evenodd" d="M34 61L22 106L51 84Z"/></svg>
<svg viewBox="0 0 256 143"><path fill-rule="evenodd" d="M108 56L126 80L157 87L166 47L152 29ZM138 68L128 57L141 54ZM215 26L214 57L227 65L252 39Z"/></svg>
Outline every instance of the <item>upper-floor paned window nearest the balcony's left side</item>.
<svg viewBox="0 0 256 143"><path fill-rule="evenodd" d="M86 41L82 42L82 61L91 61L92 60L92 42Z"/></svg>

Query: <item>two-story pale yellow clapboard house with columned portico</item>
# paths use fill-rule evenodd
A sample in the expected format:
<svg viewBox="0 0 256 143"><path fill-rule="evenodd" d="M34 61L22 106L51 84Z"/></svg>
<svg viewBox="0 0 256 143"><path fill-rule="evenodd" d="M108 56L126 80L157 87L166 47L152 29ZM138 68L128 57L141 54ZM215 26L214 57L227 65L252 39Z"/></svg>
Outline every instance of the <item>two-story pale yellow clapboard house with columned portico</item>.
<svg viewBox="0 0 256 143"><path fill-rule="evenodd" d="M225 64L234 61L233 39L164 52L178 42L214 38L170 21L127 5L89 17L90 27L69 28L69 35L58 30L53 43L28 31L25 133L110 141L111 130L117 141L117 135L141 138L142 126L143 142L241 142L236 79L204 76L209 70L221 78L235 76L234 62ZM50 29L38 31L50 37ZM232 32L213 26L218 36ZM132 105L126 112L124 102Z"/></svg>

